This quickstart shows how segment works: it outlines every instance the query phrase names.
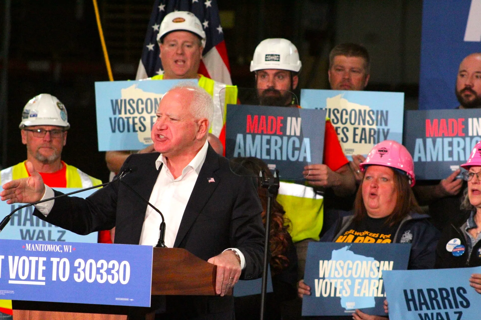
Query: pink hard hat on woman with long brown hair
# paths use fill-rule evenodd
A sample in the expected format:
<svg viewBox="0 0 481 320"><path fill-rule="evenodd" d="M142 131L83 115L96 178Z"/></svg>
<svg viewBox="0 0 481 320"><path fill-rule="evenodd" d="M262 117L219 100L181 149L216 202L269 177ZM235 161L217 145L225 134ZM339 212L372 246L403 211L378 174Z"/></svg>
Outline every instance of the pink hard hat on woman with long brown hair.
<svg viewBox="0 0 481 320"><path fill-rule="evenodd" d="M359 167L364 172L366 167L371 165L389 166L399 169L405 172L411 187L416 183L413 157L406 147L399 142L384 140L376 144L367 154L366 161L361 163Z"/></svg>

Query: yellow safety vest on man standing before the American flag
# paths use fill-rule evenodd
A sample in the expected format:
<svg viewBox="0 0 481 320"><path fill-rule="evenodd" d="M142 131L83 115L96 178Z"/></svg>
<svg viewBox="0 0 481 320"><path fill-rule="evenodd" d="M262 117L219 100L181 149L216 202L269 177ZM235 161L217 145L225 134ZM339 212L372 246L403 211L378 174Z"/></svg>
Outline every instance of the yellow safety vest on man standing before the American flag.
<svg viewBox="0 0 481 320"><path fill-rule="evenodd" d="M220 83L204 77L202 74L199 75L199 86L207 91L207 93L212 96L212 100L214 101L214 118L212 120L209 132L218 137L222 131L222 128L224 127L224 124L226 123L227 105L237 104L237 86ZM150 79L163 80L164 75L159 74Z"/></svg>

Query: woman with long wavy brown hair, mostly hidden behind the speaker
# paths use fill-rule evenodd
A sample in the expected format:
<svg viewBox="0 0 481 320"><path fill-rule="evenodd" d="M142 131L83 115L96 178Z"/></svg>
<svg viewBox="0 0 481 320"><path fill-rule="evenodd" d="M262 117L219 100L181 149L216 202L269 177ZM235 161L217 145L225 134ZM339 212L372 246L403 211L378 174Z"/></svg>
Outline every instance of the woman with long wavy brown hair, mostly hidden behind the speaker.
<svg viewBox="0 0 481 320"><path fill-rule="evenodd" d="M272 177L267 165L254 157L235 158L231 162L247 169L248 175L259 176L261 170ZM264 211L262 220L266 225L267 194L266 189L260 185L260 179L253 178L257 186L257 193ZM274 198L271 208L271 223L269 231L269 250L271 253L270 269L272 274L273 292L266 295L265 319L282 319L282 303L296 298L297 282L297 255L292 243L291 235L287 231L289 220L284 216L282 205ZM260 295L236 297L234 300L236 320L257 319L260 313Z"/></svg>

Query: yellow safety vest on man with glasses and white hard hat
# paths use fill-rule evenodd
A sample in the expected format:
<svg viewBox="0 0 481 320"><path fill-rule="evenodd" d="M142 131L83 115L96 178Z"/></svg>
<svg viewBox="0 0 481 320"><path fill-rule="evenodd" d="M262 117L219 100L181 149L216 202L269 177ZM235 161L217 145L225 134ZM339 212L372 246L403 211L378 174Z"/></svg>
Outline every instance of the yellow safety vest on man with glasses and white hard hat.
<svg viewBox="0 0 481 320"><path fill-rule="evenodd" d="M21 179L21 178L28 178L28 171L25 167L25 163L21 162L16 164L15 166L8 167L0 171L0 185L4 183L10 182L12 180ZM97 186L102 184L102 181L93 177L90 177L88 174L80 171L75 166L69 166L65 164L67 167L65 170L65 176L67 178L67 187L66 188L89 188L93 186ZM12 300L1 300L0 299L0 309L12 309Z"/></svg>

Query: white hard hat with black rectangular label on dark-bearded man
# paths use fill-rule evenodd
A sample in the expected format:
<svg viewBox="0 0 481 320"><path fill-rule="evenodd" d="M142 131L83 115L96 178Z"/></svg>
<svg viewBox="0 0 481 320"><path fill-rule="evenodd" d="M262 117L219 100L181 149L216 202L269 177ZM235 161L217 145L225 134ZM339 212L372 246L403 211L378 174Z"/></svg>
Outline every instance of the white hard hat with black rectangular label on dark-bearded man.
<svg viewBox="0 0 481 320"><path fill-rule="evenodd" d="M302 63L291 41L282 38L262 40L255 48L251 71L280 69L299 72Z"/></svg>

